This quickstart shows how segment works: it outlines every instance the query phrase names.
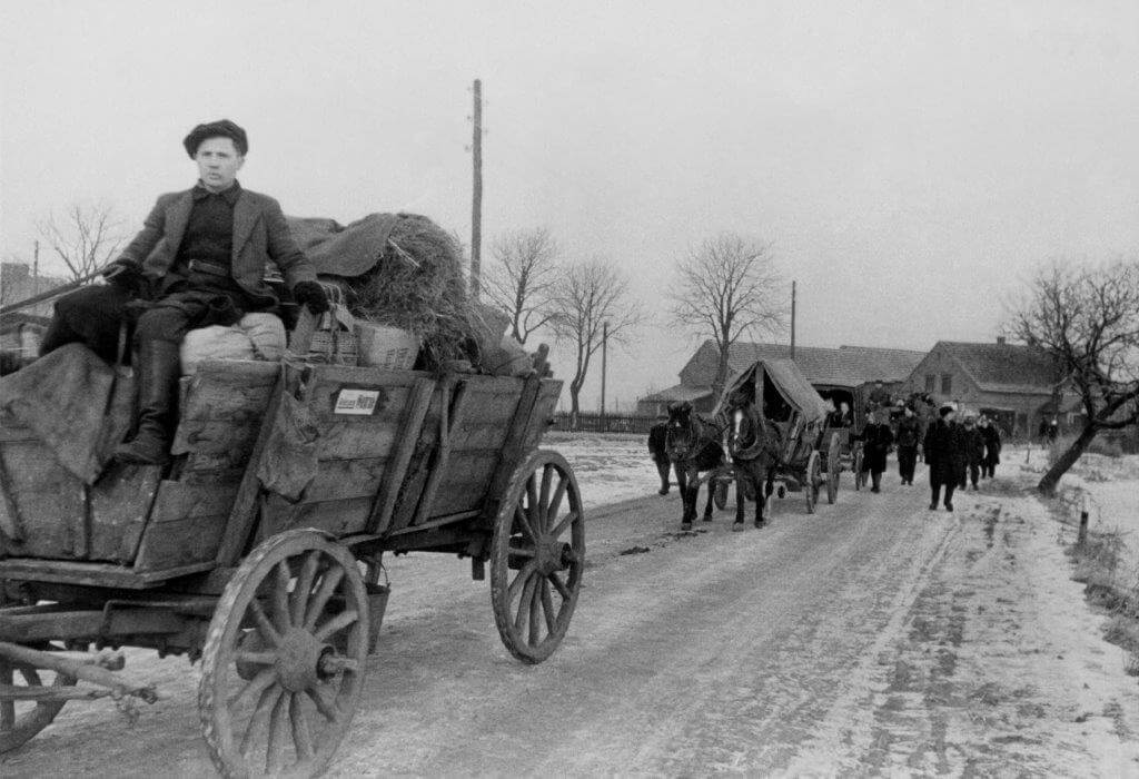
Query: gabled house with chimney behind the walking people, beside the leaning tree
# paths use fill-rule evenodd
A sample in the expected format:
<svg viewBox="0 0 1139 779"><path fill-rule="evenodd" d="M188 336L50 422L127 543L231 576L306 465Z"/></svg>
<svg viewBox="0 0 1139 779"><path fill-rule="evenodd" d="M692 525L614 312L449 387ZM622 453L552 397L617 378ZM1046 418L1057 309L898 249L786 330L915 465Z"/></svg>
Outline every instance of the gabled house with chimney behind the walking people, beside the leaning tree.
<svg viewBox="0 0 1139 779"><path fill-rule="evenodd" d="M1039 348L1010 344L939 341L913 368L903 392L925 392L937 402L956 402L998 419L1006 434L1036 434L1043 418L1073 424L1071 393L1052 359ZM1059 409L1059 413L1057 413Z"/></svg>

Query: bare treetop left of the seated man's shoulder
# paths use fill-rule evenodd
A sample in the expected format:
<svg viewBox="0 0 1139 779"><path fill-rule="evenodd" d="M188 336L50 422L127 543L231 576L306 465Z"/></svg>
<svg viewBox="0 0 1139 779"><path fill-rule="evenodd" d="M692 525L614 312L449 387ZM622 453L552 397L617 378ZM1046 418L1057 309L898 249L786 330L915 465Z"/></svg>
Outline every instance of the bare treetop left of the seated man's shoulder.
<svg viewBox="0 0 1139 779"><path fill-rule="evenodd" d="M76 281L110 262L123 243L114 208L105 204L73 203L63 215L50 213L35 227Z"/></svg>

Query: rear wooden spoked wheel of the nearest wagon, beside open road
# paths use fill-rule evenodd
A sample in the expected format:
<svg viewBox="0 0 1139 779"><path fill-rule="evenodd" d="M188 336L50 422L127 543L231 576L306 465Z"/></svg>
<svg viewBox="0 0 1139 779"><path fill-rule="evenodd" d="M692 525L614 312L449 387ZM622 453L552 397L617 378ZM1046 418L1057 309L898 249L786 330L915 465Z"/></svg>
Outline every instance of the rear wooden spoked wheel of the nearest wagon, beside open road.
<svg viewBox="0 0 1139 779"><path fill-rule="evenodd" d="M577 479L557 452L534 452L510 481L491 546L491 605L511 655L541 663L554 654L577 605L584 565Z"/></svg>

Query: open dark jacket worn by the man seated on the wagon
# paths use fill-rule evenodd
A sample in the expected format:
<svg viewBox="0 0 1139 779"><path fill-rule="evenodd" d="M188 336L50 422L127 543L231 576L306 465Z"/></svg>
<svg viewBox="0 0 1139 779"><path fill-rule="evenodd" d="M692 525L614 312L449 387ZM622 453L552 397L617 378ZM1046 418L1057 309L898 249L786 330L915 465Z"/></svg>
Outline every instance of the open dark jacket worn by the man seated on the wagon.
<svg viewBox="0 0 1139 779"><path fill-rule="evenodd" d="M192 190L162 195L142 223L142 230L120 255L121 260L140 265L159 294L164 295L171 286L183 280L174 271L174 260L192 207ZM276 298L264 282L268 262L281 269L289 289L297 281L317 280L317 271L293 240L277 200L243 189L233 205L230 273L254 300Z"/></svg>

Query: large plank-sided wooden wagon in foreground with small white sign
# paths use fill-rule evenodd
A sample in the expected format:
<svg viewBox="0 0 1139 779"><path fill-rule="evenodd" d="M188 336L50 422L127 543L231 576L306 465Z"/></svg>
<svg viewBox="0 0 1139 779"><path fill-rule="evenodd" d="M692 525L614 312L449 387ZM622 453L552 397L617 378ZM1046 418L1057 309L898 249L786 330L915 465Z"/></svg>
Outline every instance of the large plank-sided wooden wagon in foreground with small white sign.
<svg viewBox="0 0 1139 779"><path fill-rule="evenodd" d="M172 465L113 465L93 484L2 420L0 752L69 699L153 700L118 671L112 650L131 646L200 661L219 771L320 772L360 698L385 551L469 558L476 580L489 561L502 641L541 662L584 565L573 472L538 450L559 391L538 376L206 362L183 379ZM301 445L286 435L298 420ZM309 470L292 502L264 486L273 451Z"/></svg>

